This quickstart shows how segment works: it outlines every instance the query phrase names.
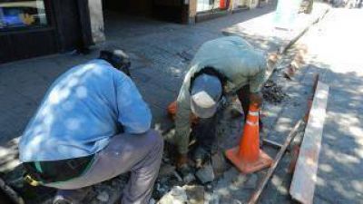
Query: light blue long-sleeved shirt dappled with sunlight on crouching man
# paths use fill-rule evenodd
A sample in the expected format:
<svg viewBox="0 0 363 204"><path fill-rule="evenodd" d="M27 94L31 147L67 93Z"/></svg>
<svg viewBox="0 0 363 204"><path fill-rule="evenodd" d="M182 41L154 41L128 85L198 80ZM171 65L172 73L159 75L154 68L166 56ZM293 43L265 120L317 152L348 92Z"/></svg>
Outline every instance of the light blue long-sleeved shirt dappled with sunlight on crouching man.
<svg viewBox="0 0 363 204"><path fill-rule="evenodd" d="M120 131L148 131L152 113L132 80L110 63L93 60L62 74L46 93L19 143L20 160L88 156ZM137 135L133 135L137 137Z"/></svg>

